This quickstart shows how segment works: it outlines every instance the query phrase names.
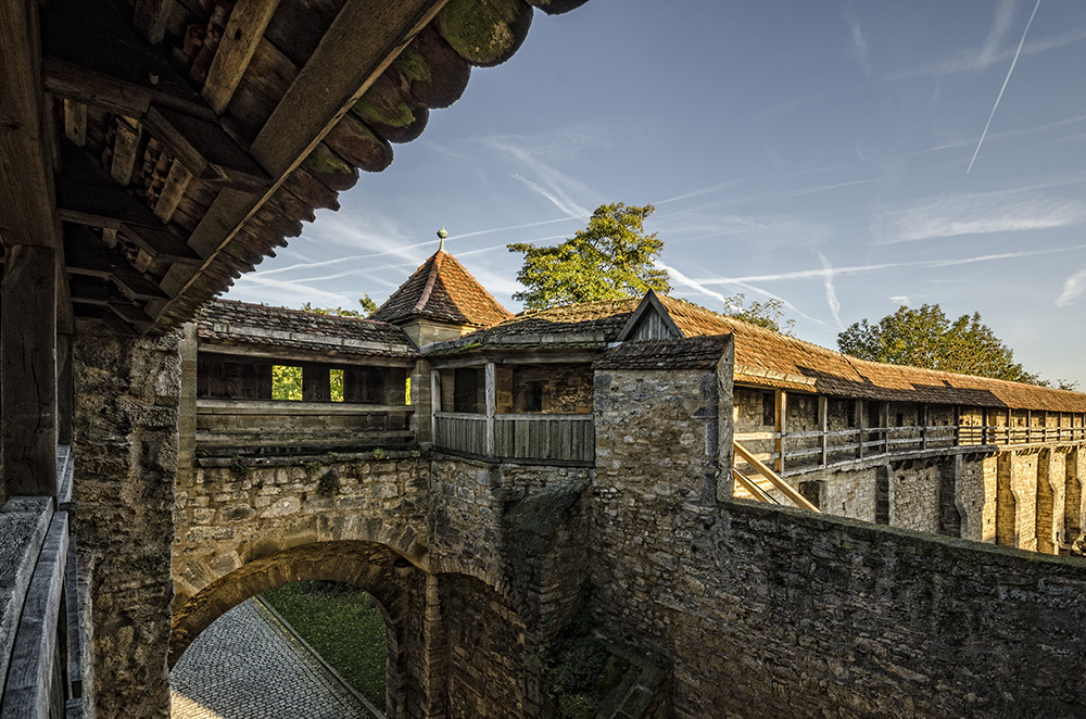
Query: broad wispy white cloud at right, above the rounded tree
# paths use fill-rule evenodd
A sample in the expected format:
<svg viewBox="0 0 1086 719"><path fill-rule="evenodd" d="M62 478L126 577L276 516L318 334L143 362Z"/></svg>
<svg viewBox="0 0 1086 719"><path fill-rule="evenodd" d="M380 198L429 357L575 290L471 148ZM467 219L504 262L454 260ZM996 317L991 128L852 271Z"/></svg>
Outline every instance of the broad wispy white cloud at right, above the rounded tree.
<svg viewBox="0 0 1086 719"><path fill-rule="evenodd" d="M915 242L961 235L986 235L1070 227L1086 222L1086 202L1021 190L942 198L876 216L877 244Z"/></svg>

